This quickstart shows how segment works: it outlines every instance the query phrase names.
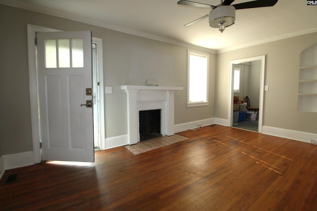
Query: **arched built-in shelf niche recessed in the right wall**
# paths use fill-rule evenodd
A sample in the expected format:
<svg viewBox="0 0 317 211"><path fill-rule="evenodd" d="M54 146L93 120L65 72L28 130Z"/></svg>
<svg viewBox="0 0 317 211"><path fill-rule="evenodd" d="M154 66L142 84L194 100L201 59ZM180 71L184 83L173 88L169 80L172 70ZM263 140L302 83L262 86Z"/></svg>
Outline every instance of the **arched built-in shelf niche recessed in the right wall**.
<svg viewBox="0 0 317 211"><path fill-rule="evenodd" d="M317 44L301 52L298 83L298 110L317 112Z"/></svg>

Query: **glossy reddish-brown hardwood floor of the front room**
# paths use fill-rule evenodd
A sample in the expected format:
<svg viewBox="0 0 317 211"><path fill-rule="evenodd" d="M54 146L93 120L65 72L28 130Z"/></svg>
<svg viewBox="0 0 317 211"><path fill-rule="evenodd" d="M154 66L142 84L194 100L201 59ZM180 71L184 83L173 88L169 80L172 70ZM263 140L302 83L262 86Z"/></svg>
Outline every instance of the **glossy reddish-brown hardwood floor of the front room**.
<svg viewBox="0 0 317 211"><path fill-rule="evenodd" d="M92 166L6 170L0 210L317 210L317 146L222 126L178 134L189 139L96 152Z"/></svg>

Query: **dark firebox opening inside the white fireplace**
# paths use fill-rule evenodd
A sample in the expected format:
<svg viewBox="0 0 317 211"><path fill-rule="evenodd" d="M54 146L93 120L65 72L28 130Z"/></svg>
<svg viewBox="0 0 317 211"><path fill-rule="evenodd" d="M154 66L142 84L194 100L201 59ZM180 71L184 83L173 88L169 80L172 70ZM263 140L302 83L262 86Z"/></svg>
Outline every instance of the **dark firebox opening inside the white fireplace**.
<svg viewBox="0 0 317 211"><path fill-rule="evenodd" d="M162 136L160 121L160 109L139 111L140 141Z"/></svg>

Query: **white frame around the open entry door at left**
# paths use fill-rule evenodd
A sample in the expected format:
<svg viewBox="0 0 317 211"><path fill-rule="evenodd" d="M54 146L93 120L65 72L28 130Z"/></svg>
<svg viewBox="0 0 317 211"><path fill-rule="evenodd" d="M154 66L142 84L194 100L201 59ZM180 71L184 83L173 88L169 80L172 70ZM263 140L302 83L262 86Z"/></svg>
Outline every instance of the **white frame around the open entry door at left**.
<svg viewBox="0 0 317 211"><path fill-rule="evenodd" d="M36 74L36 32L58 32L60 30L50 29L41 26L27 25L28 35L28 60L29 60L29 84L30 84L30 107L31 107L31 126L32 126L32 142L33 142L33 160L34 163L41 163L40 149L40 123L39 123L39 106L38 106L38 84ZM98 46L103 46L102 39L93 38ZM106 148L105 143L105 106L104 106L104 74L103 74L103 50L102 47L97 49L98 54L98 71L100 76L100 149Z"/></svg>

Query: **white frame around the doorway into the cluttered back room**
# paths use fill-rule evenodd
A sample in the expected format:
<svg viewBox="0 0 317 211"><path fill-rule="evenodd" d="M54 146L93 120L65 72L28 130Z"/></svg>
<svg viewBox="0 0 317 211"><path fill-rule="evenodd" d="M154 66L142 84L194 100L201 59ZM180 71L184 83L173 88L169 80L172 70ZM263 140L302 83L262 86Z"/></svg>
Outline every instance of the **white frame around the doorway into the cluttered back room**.
<svg viewBox="0 0 317 211"><path fill-rule="evenodd" d="M228 126L231 127L233 123L233 69L235 64L244 62L261 61L261 73L260 73L260 101L259 101L259 126L258 132L262 133L263 124L263 99L264 99L264 72L265 72L265 55L255 56L244 59L237 59L230 61L229 66L229 99L228 99Z"/></svg>

